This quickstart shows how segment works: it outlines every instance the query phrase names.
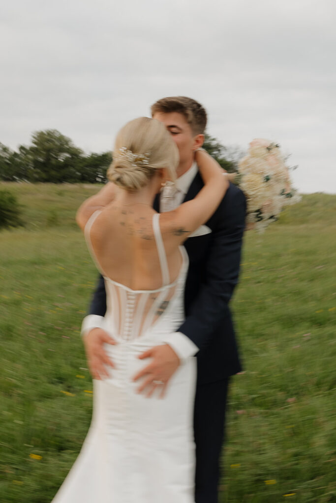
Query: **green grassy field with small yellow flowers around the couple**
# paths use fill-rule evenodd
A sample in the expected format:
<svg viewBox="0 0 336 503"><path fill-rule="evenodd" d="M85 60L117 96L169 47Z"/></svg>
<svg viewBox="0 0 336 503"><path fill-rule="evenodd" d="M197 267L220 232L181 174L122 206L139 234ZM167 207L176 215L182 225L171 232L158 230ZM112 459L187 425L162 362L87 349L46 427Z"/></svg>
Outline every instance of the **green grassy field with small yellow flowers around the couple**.
<svg viewBox="0 0 336 503"><path fill-rule="evenodd" d="M26 227L0 232L0 501L48 503L91 420L80 325L97 272L74 215L97 186L2 188ZM246 234L223 502L336 502L335 265L336 196L306 195Z"/></svg>

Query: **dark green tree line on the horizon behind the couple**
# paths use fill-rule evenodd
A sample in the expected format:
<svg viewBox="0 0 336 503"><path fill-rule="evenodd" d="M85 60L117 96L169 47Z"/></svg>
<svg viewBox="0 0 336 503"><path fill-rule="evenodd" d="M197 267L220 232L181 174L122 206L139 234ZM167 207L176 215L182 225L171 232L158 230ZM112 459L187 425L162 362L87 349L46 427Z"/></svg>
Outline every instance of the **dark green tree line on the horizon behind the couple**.
<svg viewBox="0 0 336 503"><path fill-rule="evenodd" d="M237 169L237 150L206 134L204 148L228 172ZM104 183L111 152L86 154L56 129L36 131L31 145L12 150L0 142L0 180L31 183Z"/></svg>

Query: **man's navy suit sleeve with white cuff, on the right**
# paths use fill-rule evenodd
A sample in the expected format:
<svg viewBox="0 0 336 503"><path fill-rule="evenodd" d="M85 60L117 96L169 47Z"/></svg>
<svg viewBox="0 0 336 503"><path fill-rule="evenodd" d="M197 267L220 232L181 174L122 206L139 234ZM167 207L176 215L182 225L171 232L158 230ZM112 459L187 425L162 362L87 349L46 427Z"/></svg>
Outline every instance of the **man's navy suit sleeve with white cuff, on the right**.
<svg viewBox="0 0 336 503"><path fill-rule="evenodd" d="M178 332L172 335L172 347L179 356L192 356L197 351L183 353L177 337L184 334L198 350L206 348L213 334L230 315L229 301L238 283L242 238L245 228L246 201L243 193L234 188L228 191L215 216L216 228L207 256L205 281ZM224 334L225 337L225 334ZM167 343L170 344L169 337Z"/></svg>

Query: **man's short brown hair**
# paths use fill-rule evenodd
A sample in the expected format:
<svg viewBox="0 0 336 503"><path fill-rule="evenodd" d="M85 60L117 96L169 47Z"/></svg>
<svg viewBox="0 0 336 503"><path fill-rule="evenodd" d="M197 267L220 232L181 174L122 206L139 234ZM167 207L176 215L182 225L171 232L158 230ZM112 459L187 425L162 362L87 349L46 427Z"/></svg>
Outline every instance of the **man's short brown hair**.
<svg viewBox="0 0 336 503"><path fill-rule="evenodd" d="M186 96L170 96L169 98L161 98L151 107L152 117L157 112L169 114L177 112L182 114L193 134L204 134L207 126L207 112L205 108L197 101Z"/></svg>

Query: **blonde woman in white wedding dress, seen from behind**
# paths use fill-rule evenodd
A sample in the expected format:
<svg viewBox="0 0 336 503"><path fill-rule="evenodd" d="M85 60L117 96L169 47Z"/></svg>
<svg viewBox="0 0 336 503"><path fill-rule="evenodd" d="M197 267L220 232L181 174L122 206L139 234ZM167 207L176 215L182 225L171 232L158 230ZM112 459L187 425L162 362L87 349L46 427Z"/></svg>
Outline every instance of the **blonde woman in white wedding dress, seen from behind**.
<svg viewBox="0 0 336 503"><path fill-rule="evenodd" d="M161 122L135 119L117 135L110 182L78 210L105 280L111 344L105 368L94 375L88 435L53 503L194 501L196 360L177 359L170 379L155 368L140 387L134 377L144 367L140 356L154 346L165 345L176 357L165 338L184 317L182 244L208 221L229 185L205 151L195 160L204 188L177 209L156 213L155 195L176 178L178 150Z"/></svg>

